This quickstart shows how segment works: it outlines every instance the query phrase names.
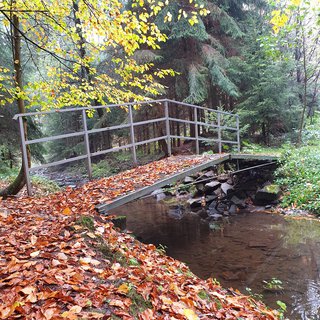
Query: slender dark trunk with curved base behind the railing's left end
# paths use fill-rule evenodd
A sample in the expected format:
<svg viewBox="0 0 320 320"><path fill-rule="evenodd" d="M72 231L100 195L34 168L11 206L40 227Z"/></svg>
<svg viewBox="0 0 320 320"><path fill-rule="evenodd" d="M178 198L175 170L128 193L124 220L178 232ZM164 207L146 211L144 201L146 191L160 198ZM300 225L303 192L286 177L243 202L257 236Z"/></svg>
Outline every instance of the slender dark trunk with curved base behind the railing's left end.
<svg viewBox="0 0 320 320"><path fill-rule="evenodd" d="M15 85L21 91L23 91L22 68L21 68L21 35L19 33L19 28L20 28L19 17L13 14L12 21L13 21L13 25L11 26L11 28L13 33L13 64L14 64L14 71L15 71ZM19 113L26 112L24 100L22 98L17 98L17 105L18 105ZM23 126L24 126L24 134L26 138L27 137L26 121L23 122ZM29 148L27 148L27 159L28 159L28 166L30 167L31 155L30 155ZM22 161L24 160L22 159ZM22 163L18 176L8 187L0 191L0 196L6 197L9 195L15 195L23 188L25 184L26 184L26 178L25 178L23 163Z"/></svg>

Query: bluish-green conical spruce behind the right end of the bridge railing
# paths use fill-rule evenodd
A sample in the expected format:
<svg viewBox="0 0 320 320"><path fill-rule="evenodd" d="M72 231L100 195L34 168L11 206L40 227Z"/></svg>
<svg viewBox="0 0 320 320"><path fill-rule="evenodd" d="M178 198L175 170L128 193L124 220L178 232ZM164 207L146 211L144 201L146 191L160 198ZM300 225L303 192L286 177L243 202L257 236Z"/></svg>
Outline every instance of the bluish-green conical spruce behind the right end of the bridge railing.
<svg viewBox="0 0 320 320"><path fill-rule="evenodd" d="M249 125L244 137L280 144L289 132L294 138L298 127L299 86L292 77L294 61L274 59L260 40L269 32L260 20L250 21L242 56L229 60L228 73L241 92L235 108L241 123Z"/></svg>

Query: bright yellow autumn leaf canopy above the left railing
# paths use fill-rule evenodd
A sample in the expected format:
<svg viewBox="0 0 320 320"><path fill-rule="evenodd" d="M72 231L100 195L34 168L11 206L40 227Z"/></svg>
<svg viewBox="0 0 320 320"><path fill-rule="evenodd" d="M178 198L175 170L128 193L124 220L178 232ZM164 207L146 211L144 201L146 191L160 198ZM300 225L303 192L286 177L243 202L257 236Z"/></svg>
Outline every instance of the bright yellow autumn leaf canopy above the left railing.
<svg viewBox="0 0 320 320"><path fill-rule="evenodd" d="M1 1L2 33L17 29L24 43L22 64L37 61L37 76L12 84L10 68L2 66L2 104L23 98L42 109L141 100L158 94L159 79L170 69L137 63L141 47L158 49L167 37L152 21L166 6L161 1ZM188 23L207 11L197 3L186 12ZM198 10L199 9L199 10ZM198 11L197 11L198 10ZM14 17L19 19L15 25ZM164 17L170 20L170 12Z"/></svg>

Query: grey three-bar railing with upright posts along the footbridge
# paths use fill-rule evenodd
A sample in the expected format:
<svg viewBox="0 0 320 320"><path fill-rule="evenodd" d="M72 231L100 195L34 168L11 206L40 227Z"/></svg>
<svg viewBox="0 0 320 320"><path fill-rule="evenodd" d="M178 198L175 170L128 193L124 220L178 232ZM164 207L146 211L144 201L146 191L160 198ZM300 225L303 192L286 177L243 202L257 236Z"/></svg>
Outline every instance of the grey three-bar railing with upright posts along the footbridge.
<svg viewBox="0 0 320 320"><path fill-rule="evenodd" d="M149 119L145 121L135 121L134 111L136 107L142 105L151 105L157 108L160 108L161 116L157 116L154 119ZM174 108L188 108L189 119L183 119L183 117L178 118L175 116ZM119 124L115 126L103 127L103 128L93 128L89 129L87 124L87 112L92 112L92 110L97 109L112 109L112 108L122 108L127 111L127 123ZM65 133L60 135L47 136L39 139L28 139L25 135L24 121L27 117L35 116L45 116L50 114L63 114L69 112L81 112L82 125L83 128L77 132ZM159 112L158 112L159 114ZM43 112L29 112L23 114L16 114L14 116L15 120L19 121L20 128L20 137L21 137L21 147L23 155L23 166L25 177L27 181L27 191L28 194L32 194L30 172L42 168L48 168L52 166L67 164L79 160L86 160L87 162L87 173L88 177L92 178L92 157L105 155L111 152L116 152L123 149L130 149L132 153L132 159L134 163L137 163L137 147L141 145L146 145L149 143L157 143L161 140L164 140L167 145L167 153L170 156L172 154L172 141L174 139L178 140L193 140L195 141L195 151L198 154L200 151L200 142L203 141L207 144L217 144L219 153L222 152L222 147L224 144L236 145L237 150L240 151L240 126L239 126L239 116L237 114L213 110L206 107L201 107L189 103L178 102L175 100L161 99L161 100L149 100L149 101L140 101L124 104L112 104L106 106L93 106L93 107L79 107L79 108L66 108L59 110L43 111ZM161 132L162 135L157 137L137 141L135 129L139 126L145 126L150 124L160 123L163 126ZM189 125L188 129L184 130L184 134L177 134L173 132L172 124L173 123L182 123L184 128L186 125ZM102 149L98 151L90 150L90 135L119 130L119 129L128 129L130 131L130 142L121 146L113 146L111 148ZM224 138L224 133L227 134L228 138ZM231 134L230 134L231 133ZM233 136L233 139L230 139L229 136ZM29 145L37 143L45 143L49 141L55 141L59 139L66 139L72 137L82 137L84 141L85 152L82 155L77 155L67 159L62 159L58 161L52 161L44 163L41 165L28 165L27 157L27 148Z"/></svg>

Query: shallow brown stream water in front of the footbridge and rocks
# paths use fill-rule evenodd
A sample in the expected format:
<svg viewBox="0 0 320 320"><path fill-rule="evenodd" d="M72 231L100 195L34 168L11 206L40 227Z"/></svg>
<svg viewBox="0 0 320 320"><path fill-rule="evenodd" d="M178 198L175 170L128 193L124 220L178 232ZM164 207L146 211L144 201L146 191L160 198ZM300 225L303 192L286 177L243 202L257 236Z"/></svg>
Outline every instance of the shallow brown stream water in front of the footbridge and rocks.
<svg viewBox="0 0 320 320"><path fill-rule="evenodd" d="M153 198L112 213L126 215L127 229L139 240L166 246L168 255L200 278L251 290L273 308L280 300L290 320L320 319L319 222L243 212L209 225L198 214Z"/></svg>

